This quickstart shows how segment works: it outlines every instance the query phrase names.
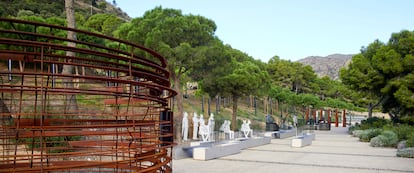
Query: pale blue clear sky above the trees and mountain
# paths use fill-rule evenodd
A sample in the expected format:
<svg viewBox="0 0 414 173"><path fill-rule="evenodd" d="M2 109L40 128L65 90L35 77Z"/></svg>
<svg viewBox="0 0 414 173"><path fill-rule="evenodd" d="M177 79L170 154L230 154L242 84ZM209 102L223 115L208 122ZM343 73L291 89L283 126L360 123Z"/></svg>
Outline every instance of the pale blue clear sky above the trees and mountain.
<svg viewBox="0 0 414 173"><path fill-rule="evenodd" d="M112 1L108 1L112 2ZM201 15L215 35L262 62L274 56L357 54L376 39L414 30L414 0L116 0L130 17L157 6Z"/></svg>

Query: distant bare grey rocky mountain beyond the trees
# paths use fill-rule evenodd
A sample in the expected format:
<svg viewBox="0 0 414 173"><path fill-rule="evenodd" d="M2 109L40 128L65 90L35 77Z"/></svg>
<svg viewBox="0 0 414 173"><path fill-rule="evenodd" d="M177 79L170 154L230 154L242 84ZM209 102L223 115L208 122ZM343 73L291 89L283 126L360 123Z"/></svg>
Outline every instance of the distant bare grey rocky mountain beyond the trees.
<svg viewBox="0 0 414 173"><path fill-rule="evenodd" d="M339 70L351 62L353 55L332 54L326 57L309 56L298 62L310 65L313 71L319 76L329 76L331 79L339 79Z"/></svg>

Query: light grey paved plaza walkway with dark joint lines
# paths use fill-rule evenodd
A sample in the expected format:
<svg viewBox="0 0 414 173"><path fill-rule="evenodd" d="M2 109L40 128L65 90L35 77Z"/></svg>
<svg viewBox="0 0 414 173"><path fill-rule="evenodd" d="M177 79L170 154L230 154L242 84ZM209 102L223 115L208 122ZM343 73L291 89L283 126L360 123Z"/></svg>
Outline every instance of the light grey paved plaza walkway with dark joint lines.
<svg viewBox="0 0 414 173"><path fill-rule="evenodd" d="M414 159L396 157L394 148L374 148L347 134L347 128L315 131L310 146L292 148L291 139L242 150L208 161L173 161L174 173L399 173L414 172Z"/></svg>

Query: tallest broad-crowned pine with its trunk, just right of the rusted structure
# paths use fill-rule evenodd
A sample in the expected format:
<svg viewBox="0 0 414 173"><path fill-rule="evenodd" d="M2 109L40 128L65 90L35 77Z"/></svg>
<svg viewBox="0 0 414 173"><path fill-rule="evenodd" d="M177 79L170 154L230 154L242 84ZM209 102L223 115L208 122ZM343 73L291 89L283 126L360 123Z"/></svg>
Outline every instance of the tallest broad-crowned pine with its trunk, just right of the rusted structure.
<svg viewBox="0 0 414 173"><path fill-rule="evenodd" d="M216 24L198 15L184 15L180 10L156 7L114 32L115 36L144 45L168 60L168 70L177 94L177 126L183 115L181 79L205 57L206 47L214 45ZM176 131L180 139L180 130Z"/></svg>

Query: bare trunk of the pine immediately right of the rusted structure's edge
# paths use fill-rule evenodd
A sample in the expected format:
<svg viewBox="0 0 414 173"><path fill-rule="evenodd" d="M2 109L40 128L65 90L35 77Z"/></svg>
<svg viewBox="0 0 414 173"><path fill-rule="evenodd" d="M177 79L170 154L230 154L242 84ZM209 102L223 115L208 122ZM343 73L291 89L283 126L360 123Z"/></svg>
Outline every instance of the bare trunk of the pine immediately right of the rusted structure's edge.
<svg viewBox="0 0 414 173"><path fill-rule="evenodd" d="M180 77L174 72L171 73L171 78L174 81L174 90L177 92L177 114L174 114L174 134L175 139L181 142L181 121L183 119L183 93L181 92Z"/></svg>

